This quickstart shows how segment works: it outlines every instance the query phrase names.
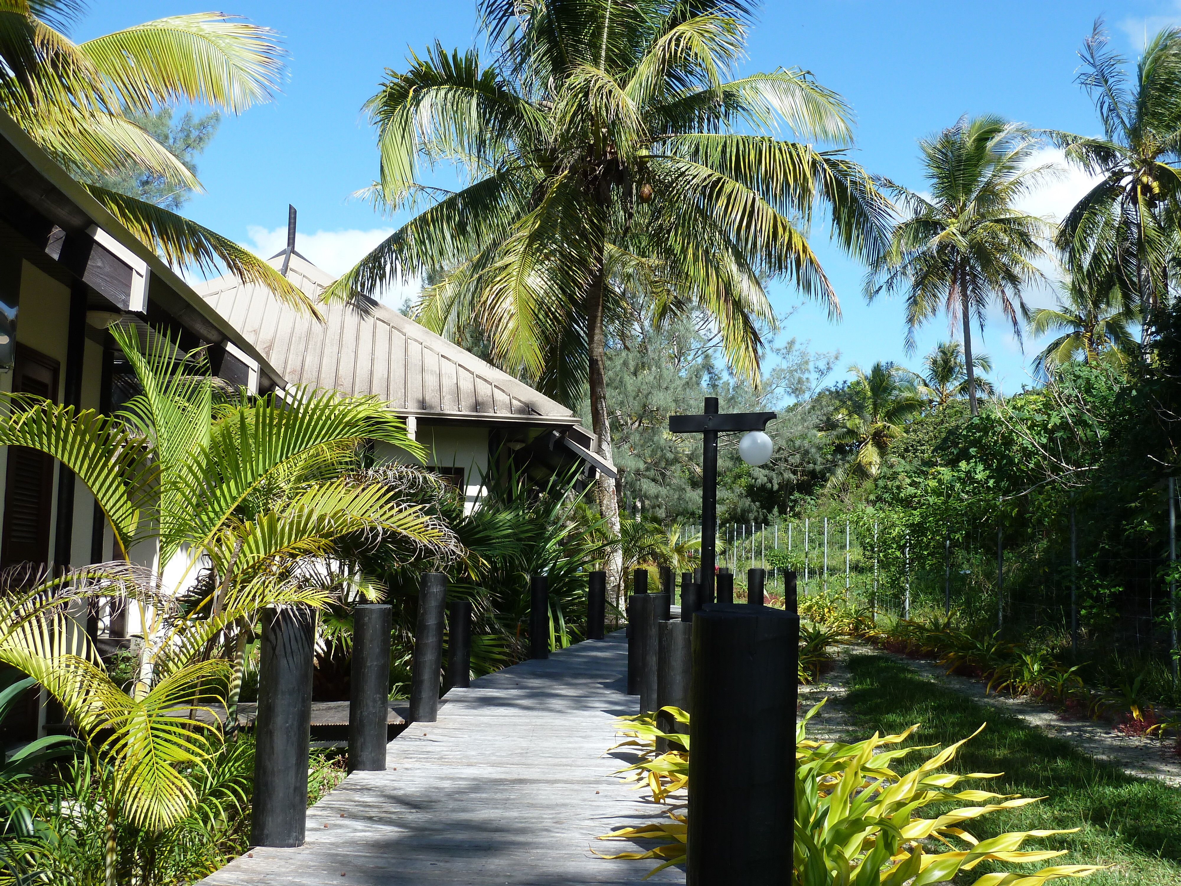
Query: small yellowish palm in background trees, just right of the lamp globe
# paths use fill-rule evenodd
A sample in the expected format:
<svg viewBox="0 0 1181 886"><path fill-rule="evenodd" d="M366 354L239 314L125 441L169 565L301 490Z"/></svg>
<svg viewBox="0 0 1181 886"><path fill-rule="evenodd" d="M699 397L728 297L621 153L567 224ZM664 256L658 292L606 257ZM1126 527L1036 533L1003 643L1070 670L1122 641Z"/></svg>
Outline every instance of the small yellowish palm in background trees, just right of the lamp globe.
<svg viewBox="0 0 1181 886"><path fill-rule="evenodd" d="M852 405L836 416L837 428L828 438L837 444L852 445L856 454L837 477L848 478L849 471L864 477L876 477L890 445L905 432L906 423L922 409L911 374L901 366L875 363L869 372L850 366Z"/></svg>

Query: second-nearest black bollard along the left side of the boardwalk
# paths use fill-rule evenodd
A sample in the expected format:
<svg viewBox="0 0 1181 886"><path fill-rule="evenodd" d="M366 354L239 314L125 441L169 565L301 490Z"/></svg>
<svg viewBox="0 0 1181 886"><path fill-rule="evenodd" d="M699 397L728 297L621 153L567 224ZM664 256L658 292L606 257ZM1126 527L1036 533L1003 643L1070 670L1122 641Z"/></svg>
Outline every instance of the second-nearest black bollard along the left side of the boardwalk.
<svg viewBox="0 0 1181 886"><path fill-rule="evenodd" d="M385 769L389 743L390 631L393 607L361 604L353 608L353 660L350 670L348 771Z"/></svg>

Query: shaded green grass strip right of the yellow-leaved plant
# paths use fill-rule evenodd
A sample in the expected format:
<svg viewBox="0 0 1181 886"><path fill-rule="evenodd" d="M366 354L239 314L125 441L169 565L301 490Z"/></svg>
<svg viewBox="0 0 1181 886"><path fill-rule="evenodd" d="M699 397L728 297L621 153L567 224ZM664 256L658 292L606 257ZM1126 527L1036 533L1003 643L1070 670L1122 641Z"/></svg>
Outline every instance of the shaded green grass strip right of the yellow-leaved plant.
<svg viewBox="0 0 1181 886"><path fill-rule="evenodd" d="M1077 834L1029 840L1023 848L1062 848L1068 855L1049 865L1114 865L1084 880L1058 880L1088 886L1181 884L1181 788L1135 778L1097 762L1066 742L1051 738L1016 717L942 689L883 656L854 656L846 699L855 716L857 736L874 730L901 732L912 723L922 728L920 744L951 744L984 722L988 728L960 749L959 771L1004 773L991 782L970 782L999 794L1045 796L1023 809L993 813L964 827L980 839L1010 830L1082 827ZM985 862L987 864L987 862ZM963 882L991 869L1018 866L981 864ZM1032 868L1030 868L1032 869ZM957 880L960 882L960 880Z"/></svg>

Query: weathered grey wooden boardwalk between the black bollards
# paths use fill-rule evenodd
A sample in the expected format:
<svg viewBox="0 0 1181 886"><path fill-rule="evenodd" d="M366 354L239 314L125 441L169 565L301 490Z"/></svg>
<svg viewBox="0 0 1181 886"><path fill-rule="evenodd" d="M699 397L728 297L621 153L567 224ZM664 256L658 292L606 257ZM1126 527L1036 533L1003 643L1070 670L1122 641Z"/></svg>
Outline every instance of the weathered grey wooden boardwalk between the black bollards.
<svg viewBox="0 0 1181 886"><path fill-rule="evenodd" d="M390 742L384 773L353 773L308 809L307 843L257 848L207 886L639 884L657 862L606 861L612 828L666 820L612 776L625 695L622 631L451 690L437 723ZM684 882L677 868L646 882Z"/></svg>

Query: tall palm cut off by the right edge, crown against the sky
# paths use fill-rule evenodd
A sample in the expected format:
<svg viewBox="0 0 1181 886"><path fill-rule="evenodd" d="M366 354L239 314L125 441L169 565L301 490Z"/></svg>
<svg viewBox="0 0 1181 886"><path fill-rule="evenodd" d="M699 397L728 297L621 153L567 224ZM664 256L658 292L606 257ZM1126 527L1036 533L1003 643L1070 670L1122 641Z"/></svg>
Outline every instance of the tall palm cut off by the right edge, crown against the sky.
<svg viewBox="0 0 1181 886"><path fill-rule="evenodd" d="M1056 241L1074 275L1116 275L1143 311L1169 291L1181 220L1181 28L1160 31L1129 78L1108 48L1102 19L1079 53L1078 83L1095 102L1103 137L1051 131L1066 159L1103 176L1063 220Z"/></svg>

